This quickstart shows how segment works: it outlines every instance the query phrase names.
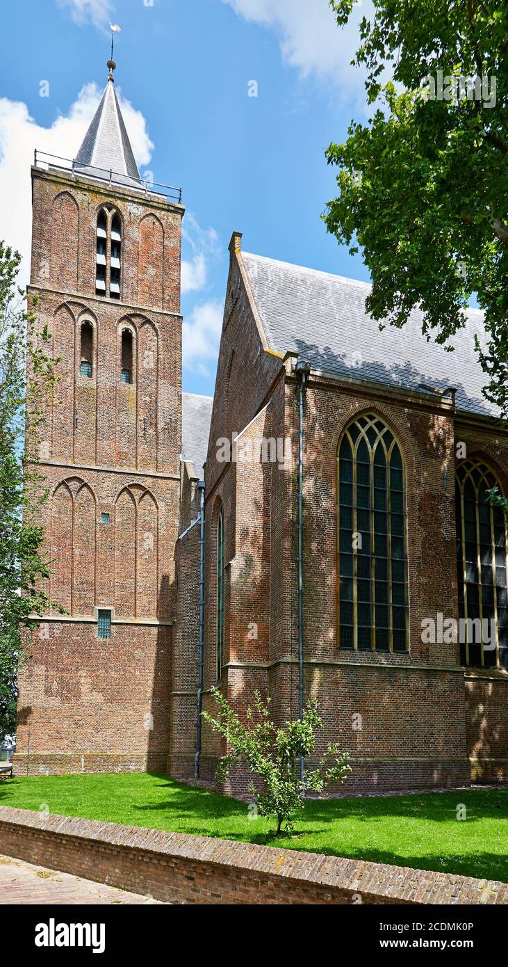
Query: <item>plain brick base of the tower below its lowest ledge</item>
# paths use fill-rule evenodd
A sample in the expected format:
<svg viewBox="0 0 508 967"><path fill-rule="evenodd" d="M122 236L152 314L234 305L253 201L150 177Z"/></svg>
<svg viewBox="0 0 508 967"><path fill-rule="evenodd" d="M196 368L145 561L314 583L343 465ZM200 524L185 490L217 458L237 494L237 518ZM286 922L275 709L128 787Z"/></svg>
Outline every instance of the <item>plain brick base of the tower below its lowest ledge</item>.
<svg viewBox="0 0 508 967"><path fill-rule="evenodd" d="M48 621L21 672L18 776L165 769L171 627Z"/></svg>

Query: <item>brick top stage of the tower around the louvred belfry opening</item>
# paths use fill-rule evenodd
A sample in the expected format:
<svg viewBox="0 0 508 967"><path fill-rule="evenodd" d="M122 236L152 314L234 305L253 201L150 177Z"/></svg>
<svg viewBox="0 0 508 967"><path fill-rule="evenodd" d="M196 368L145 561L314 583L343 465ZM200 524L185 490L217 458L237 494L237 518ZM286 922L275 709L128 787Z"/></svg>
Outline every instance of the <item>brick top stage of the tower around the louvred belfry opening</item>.
<svg viewBox="0 0 508 967"><path fill-rule="evenodd" d="M182 205L54 169L33 167L32 182L33 286L95 298L97 217L109 205L122 222L121 302L180 312Z"/></svg>

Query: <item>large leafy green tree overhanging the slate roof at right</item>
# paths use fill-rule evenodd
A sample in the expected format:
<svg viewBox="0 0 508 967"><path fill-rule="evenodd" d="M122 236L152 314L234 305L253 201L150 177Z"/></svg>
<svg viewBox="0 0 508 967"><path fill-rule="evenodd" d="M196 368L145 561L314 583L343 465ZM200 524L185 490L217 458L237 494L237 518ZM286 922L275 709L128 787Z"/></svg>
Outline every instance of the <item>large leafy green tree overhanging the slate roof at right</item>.
<svg viewBox="0 0 508 967"><path fill-rule="evenodd" d="M354 0L330 4L344 25ZM376 320L401 327L421 308L424 333L450 348L477 294L484 393L506 417L507 0L374 0L353 64L366 70L372 117L327 149L340 171L326 226L362 249ZM468 78L479 79L465 97Z"/></svg>

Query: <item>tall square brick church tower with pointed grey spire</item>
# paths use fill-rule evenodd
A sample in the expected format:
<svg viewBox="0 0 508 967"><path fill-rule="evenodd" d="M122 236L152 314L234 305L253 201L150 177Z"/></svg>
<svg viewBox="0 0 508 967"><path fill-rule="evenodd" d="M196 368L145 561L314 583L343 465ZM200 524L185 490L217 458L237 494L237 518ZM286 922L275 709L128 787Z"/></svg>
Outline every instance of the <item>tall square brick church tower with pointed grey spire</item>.
<svg viewBox="0 0 508 967"><path fill-rule="evenodd" d="M179 193L140 178L114 68L71 167L36 154L29 305L58 382L41 448L47 593L17 775L164 770L182 449Z"/></svg>

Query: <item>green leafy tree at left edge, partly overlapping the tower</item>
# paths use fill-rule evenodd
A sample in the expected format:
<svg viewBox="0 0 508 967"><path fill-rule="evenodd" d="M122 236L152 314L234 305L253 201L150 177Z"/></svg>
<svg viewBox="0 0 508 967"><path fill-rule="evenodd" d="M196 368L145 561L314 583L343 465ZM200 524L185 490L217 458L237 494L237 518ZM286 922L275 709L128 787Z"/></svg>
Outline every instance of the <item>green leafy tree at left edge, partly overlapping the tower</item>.
<svg viewBox="0 0 508 967"><path fill-rule="evenodd" d="M16 285L20 257L0 242L0 741L15 729L23 632L48 601L39 523L46 491L38 465L44 397L54 381L49 334Z"/></svg>

